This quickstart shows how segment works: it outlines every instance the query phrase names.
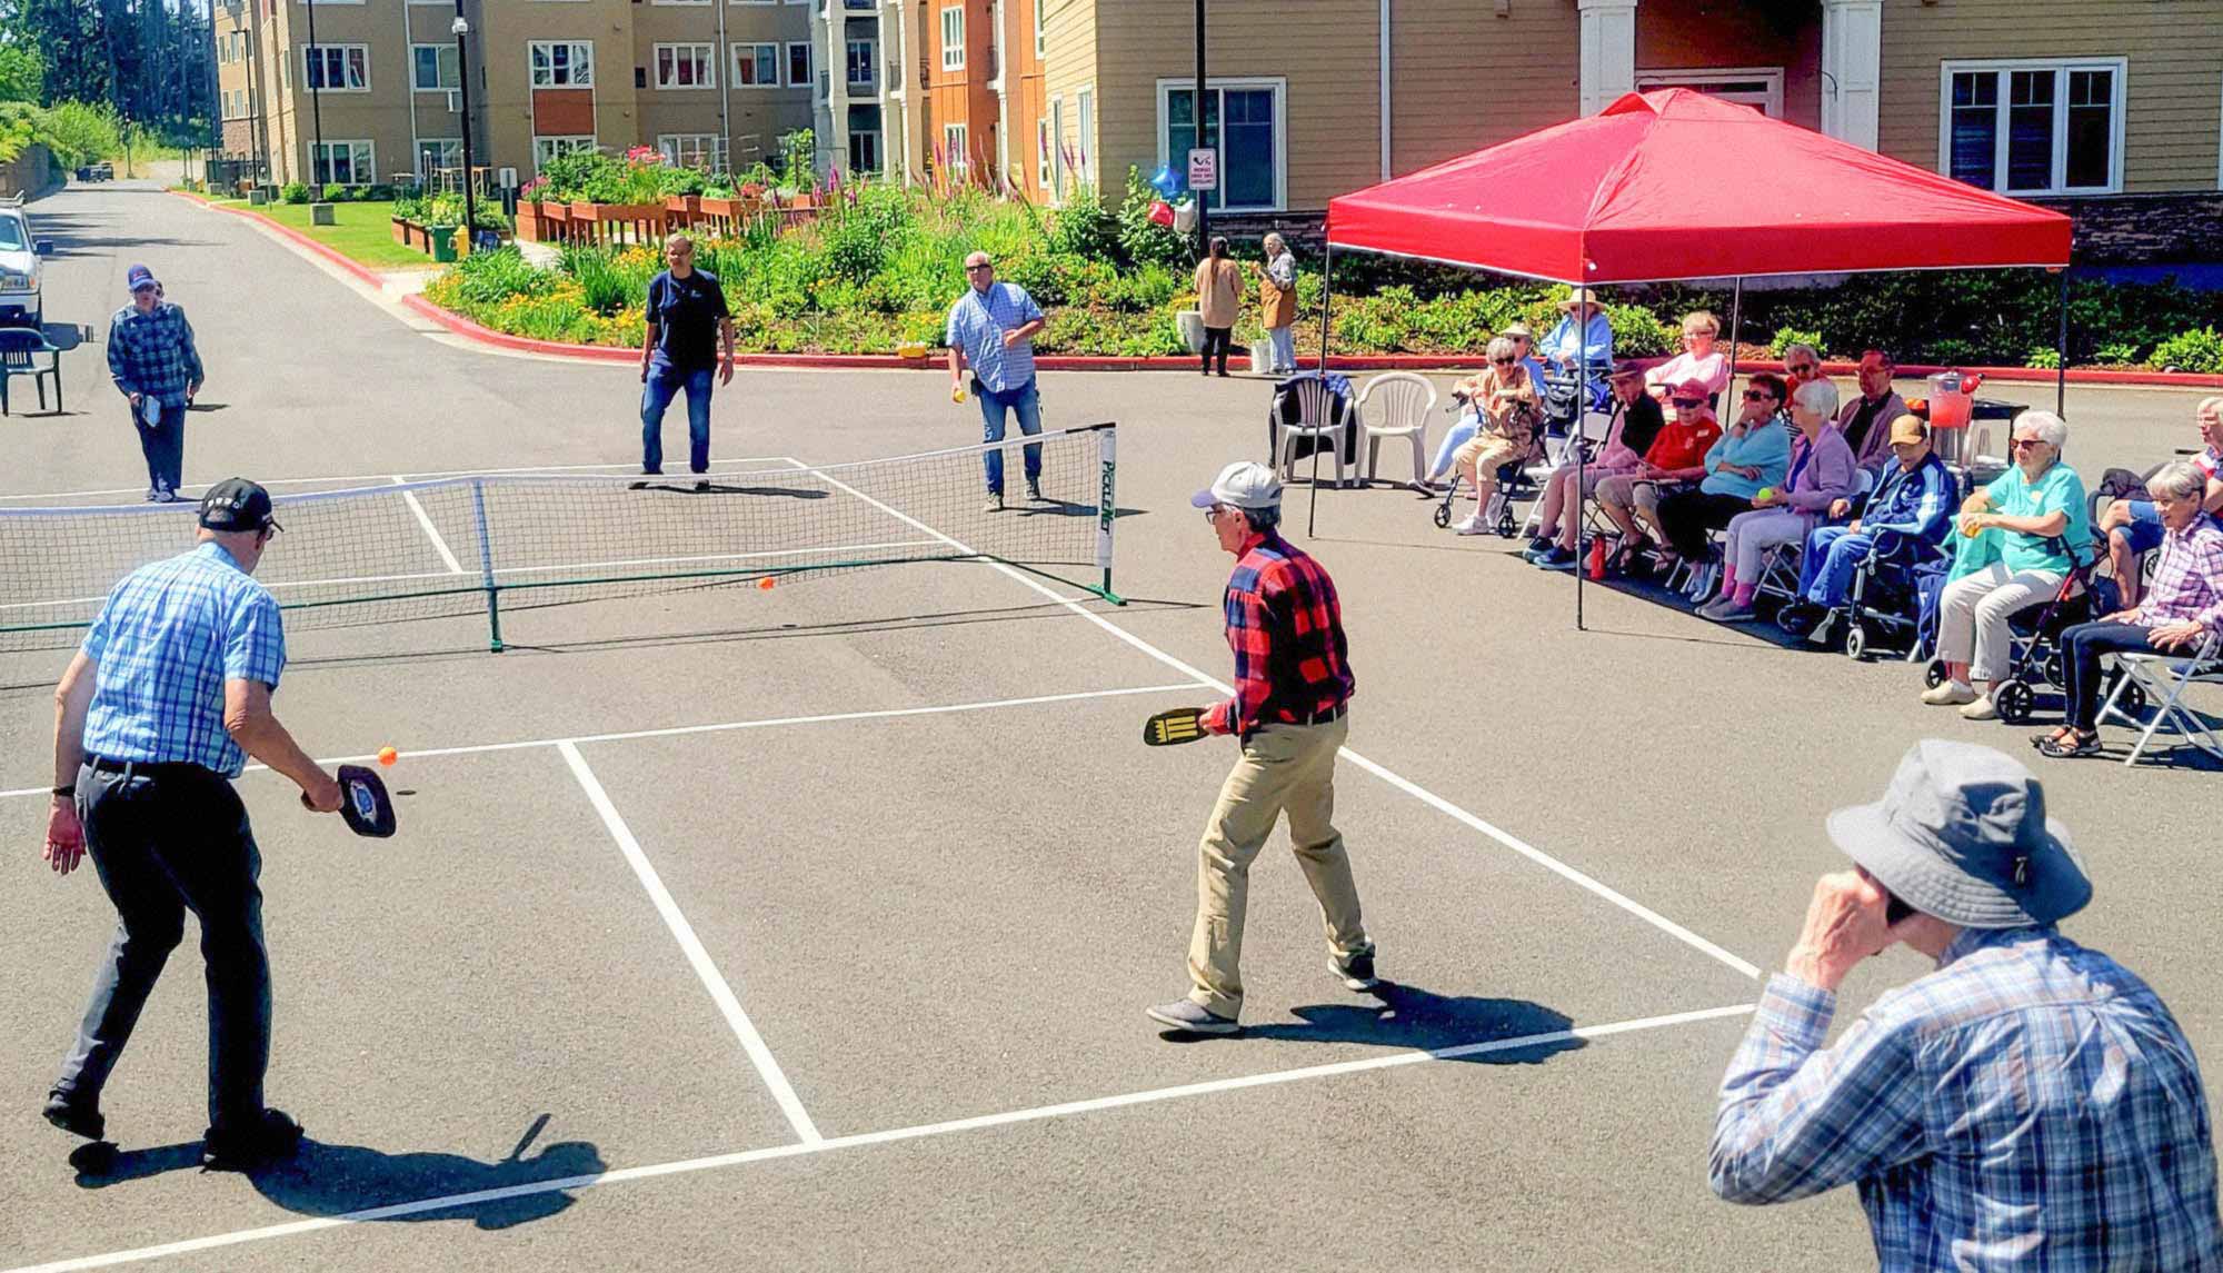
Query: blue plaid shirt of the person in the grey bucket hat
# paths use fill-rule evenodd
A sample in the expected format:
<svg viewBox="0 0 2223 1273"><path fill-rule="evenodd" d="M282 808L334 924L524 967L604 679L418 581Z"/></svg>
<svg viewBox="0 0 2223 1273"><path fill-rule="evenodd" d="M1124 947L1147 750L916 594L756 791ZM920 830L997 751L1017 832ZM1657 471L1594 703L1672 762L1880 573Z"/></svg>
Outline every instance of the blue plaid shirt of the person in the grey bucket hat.
<svg viewBox="0 0 2223 1273"><path fill-rule="evenodd" d="M1767 981L1721 1082L1721 1197L1858 1182L1885 1273L2223 1269L2199 1062L2114 959L1972 928L1825 1050L1834 1010Z"/></svg>

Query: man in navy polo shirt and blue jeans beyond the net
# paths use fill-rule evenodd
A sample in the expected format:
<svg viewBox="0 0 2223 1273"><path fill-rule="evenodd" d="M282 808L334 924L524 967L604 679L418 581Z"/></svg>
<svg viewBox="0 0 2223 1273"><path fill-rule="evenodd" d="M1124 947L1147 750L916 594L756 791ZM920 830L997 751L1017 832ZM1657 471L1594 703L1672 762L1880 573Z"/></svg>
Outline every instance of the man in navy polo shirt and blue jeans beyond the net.
<svg viewBox="0 0 2223 1273"><path fill-rule="evenodd" d="M734 316L718 276L694 267L694 238L665 238L665 265L669 269L649 278L649 332L640 343L640 472L665 472L665 409L685 387L687 470L702 474L709 472L709 376L718 372L720 385L734 383Z"/></svg>

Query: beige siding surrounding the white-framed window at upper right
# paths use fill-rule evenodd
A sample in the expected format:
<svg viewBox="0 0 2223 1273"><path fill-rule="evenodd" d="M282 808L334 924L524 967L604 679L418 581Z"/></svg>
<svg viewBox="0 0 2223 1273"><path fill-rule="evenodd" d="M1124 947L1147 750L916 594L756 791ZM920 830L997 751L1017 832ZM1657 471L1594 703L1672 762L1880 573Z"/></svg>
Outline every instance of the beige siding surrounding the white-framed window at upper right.
<svg viewBox="0 0 2223 1273"><path fill-rule="evenodd" d="M2127 58L2123 189L2216 189L2223 0L1885 0L1878 149L1938 167L1938 62Z"/></svg>

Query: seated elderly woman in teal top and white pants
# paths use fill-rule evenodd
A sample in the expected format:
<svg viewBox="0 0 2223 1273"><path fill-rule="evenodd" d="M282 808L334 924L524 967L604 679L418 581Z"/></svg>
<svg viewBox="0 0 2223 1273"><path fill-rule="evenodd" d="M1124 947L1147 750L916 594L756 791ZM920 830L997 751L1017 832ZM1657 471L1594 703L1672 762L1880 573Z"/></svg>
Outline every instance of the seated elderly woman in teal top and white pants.
<svg viewBox="0 0 2223 1273"><path fill-rule="evenodd" d="M1961 547L1938 599L1945 681L1925 703L1961 705L1972 721L1998 719L1990 690L2007 677L2007 619L2043 605L2092 559L2083 478L2061 463L2067 423L2052 412L2014 418L2014 467L1961 505ZM1974 681L1990 681L1976 694Z"/></svg>

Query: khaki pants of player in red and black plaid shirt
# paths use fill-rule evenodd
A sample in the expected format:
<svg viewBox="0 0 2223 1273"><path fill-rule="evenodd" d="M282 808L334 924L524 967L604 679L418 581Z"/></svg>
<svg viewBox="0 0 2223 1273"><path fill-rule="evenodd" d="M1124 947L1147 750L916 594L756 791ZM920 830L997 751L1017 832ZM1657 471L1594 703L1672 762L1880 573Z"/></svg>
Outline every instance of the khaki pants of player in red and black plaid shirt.
<svg viewBox="0 0 2223 1273"><path fill-rule="evenodd" d="M1349 717L1325 726L1265 726L1220 788L1196 857L1196 935L1189 937L1189 999L1220 1017L1243 1013L1243 910L1249 864L1287 810L1289 841L1305 884L1320 901L1327 950L1343 964L1374 948L1358 919L1352 859L1334 828L1336 748Z"/></svg>

